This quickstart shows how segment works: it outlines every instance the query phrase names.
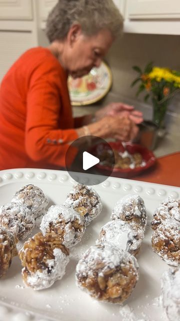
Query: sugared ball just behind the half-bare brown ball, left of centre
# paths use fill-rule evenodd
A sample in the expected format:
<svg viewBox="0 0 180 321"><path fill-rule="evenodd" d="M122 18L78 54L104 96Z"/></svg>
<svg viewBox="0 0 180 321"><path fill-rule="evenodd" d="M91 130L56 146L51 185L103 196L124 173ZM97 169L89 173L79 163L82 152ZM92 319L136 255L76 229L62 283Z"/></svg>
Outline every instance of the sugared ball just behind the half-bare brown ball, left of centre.
<svg viewBox="0 0 180 321"><path fill-rule="evenodd" d="M81 240L85 231L85 222L72 207L55 205L51 206L43 216L40 230L43 235L55 232L62 237L62 243L69 248Z"/></svg>

